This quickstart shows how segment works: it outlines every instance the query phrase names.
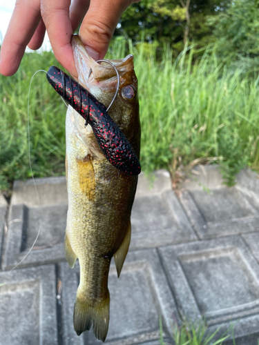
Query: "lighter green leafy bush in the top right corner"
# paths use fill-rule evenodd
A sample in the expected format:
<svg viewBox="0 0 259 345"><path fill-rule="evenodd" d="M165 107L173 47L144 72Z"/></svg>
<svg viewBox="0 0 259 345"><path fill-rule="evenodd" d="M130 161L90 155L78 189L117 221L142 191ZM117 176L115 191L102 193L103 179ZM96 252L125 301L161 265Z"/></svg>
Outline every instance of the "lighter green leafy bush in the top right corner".
<svg viewBox="0 0 259 345"><path fill-rule="evenodd" d="M210 17L209 26L214 26L220 55L236 58L237 55L259 55L259 1L234 0L226 10Z"/></svg>

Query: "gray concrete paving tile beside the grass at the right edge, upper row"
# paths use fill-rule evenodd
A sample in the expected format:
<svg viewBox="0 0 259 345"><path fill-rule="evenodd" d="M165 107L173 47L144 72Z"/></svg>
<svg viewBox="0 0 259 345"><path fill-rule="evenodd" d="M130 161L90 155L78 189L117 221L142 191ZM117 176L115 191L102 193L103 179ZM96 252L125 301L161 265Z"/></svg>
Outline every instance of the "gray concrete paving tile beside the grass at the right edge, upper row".
<svg viewBox="0 0 259 345"><path fill-rule="evenodd" d="M180 201L200 239L259 230L259 176L243 170L232 188L218 166L197 166L182 184ZM252 180L252 182L251 182ZM251 190L253 188L253 191Z"/></svg>

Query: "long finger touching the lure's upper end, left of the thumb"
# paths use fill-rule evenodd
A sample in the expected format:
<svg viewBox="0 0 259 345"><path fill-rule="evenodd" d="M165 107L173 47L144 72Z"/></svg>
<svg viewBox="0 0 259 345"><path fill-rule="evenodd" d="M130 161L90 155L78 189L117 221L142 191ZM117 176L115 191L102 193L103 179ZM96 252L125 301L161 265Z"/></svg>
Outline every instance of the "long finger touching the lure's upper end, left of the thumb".
<svg viewBox="0 0 259 345"><path fill-rule="evenodd" d="M41 16L57 58L73 77L77 77L71 46L73 29L69 19L70 0L42 0Z"/></svg>

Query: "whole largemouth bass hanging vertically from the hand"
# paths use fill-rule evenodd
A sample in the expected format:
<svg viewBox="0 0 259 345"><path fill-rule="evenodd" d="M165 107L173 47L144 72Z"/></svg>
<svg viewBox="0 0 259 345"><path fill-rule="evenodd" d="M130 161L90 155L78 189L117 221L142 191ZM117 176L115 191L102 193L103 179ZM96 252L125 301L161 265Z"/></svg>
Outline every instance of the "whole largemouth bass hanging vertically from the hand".
<svg viewBox="0 0 259 345"><path fill-rule="evenodd" d="M107 107L117 87L115 70L93 60L78 36L73 37L72 45L79 83ZM140 157L133 56L112 62L119 72L120 83L109 115ZM119 277L128 252L137 176L111 165L97 144L92 128L85 126L84 119L71 107L66 115L66 175L66 259L70 267L77 258L80 265L74 327L80 335L93 324L95 336L104 342L109 322L108 271L114 257Z"/></svg>

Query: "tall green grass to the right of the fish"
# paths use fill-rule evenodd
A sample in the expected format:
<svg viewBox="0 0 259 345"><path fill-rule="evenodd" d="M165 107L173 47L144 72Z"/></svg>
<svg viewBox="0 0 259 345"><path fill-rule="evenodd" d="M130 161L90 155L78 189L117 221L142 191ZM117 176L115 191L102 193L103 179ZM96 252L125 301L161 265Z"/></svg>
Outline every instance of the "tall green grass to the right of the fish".
<svg viewBox="0 0 259 345"><path fill-rule="evenodd" d="M231 185L247 162L258 168L258 79L229 73L214 54L193 64L194 48L186 52L174 63L169 50L161 63L138 52L142 168L214 157Z"/></svg>

